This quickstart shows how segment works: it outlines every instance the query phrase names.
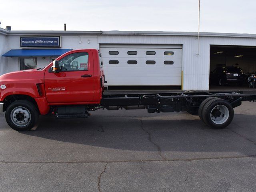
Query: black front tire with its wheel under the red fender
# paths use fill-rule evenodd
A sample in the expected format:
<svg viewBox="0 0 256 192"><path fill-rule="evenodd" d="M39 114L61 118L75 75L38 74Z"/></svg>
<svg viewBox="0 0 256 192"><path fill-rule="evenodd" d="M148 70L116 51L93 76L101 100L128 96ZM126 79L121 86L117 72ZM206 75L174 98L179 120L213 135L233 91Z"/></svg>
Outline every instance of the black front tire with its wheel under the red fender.
<svg viewBox="0 0 256 192"><path fill-rule="evenodd" d="M20 112L20 109L22 110L22 112L24 111L25 113ZM17 112L14 113L16 110ZM28 114L28 117L26 116L26 114ZM32 129L38 122L38 116L39 112L36 106L27 100L18 100L12 102L7 107L5 112L6 122L12 129L16 131L28 131ZM18 123L22 123L22 125L18 126Z"/></svg>

